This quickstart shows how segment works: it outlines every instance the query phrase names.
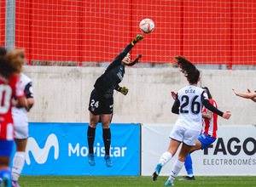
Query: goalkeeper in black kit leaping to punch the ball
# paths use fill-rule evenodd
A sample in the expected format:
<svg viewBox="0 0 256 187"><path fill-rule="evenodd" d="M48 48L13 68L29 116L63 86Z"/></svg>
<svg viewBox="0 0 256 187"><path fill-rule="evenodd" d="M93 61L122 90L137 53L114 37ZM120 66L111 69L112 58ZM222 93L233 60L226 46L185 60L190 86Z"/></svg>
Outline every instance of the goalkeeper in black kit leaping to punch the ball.
<svg viewBox="0 0 256 187"><path fill-rule="evenodd" d="M96 80L94 89L90 94L89 111L90 111L90 124L87 131L87 139L89 145L88 160L90 166L95 166L93 144L95 139L96 125L100 121L102 122L103 129L103 142L105 145L105 156L107 167L112 167L112 161L110 157L110 122L113 116L113 90L117 90L120 93L126 95L128 88L120 87L119 82L123 80L125 75L125 66L135 65L138 59L142 57L138 55L131 63L131 48L133 48L137 42L143 40L142 35L137 35L133 42L126 46L126 48L115 58L113 62L108 65L108 68L101 77Z"/></svg>

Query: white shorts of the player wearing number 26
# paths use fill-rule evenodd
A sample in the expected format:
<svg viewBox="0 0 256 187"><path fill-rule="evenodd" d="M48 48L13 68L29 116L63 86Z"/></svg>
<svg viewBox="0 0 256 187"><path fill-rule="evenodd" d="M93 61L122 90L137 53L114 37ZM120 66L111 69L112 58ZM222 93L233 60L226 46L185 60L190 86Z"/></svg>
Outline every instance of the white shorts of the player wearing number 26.
<svg viewBox="0 0 256 187"><path fill-rule="evenodd" d="M189 146L194 146L199 135L200 131L195 131L189 128L175 125L172 128L172 132L170 133L169 137L179 142L183 142L184 144L187 144Z"/></svg>

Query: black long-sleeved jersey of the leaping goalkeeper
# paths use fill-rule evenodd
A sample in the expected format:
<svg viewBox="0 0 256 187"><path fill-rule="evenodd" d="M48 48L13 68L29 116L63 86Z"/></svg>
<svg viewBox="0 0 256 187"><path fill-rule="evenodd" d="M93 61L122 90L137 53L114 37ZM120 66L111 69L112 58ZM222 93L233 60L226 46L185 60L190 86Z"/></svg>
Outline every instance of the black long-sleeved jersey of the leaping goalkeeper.
<svg viewBox="0 0 256 187"><path fill-rule="evenodd" d="M122 64L122 59L125 58L126 54L131 51L133 46L131 43L115 58L112 63L108 65L108 68L101 77L99 77L94 88L104 98L112 98L113 90L118 88L119 82L123 80L125 75L125 65Z"/></svg>

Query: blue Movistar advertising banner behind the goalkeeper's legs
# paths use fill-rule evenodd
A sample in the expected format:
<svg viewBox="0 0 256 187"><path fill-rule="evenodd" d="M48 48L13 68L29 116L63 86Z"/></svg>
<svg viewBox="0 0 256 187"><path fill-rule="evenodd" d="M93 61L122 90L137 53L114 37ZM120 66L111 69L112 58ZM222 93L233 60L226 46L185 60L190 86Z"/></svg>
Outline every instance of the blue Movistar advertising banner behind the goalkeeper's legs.
<svg viewBox="0 0 256 187"><path fill-rule="evenodd" d="M139 175L140 125L117 124L111 129L113 167L104 161L102 125L96 127L96 166L88 162L88 123L30 122L23 175Z"/></svg>

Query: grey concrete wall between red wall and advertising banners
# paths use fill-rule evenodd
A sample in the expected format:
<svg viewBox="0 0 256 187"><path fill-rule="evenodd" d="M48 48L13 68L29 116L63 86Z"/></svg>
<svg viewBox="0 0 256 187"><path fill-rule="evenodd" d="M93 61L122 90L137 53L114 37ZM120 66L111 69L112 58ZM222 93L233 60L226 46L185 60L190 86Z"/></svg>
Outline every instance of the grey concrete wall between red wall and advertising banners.
<svg viewBox="0 0 256 187"><path fill-rule="evenodd" d="M102 67L25 66L32 78L35 105L29 122L89 122L90 92ZM221 111L231 111L230 120L220 124L255 124L256 103L237 97L232 88L256 90L256 71L201 70L199 86L207 86ZM114 93L113 122L173 123L171 91L188 82L175 68L126 68L120 86L129 88L124 96Z"/></svg>

